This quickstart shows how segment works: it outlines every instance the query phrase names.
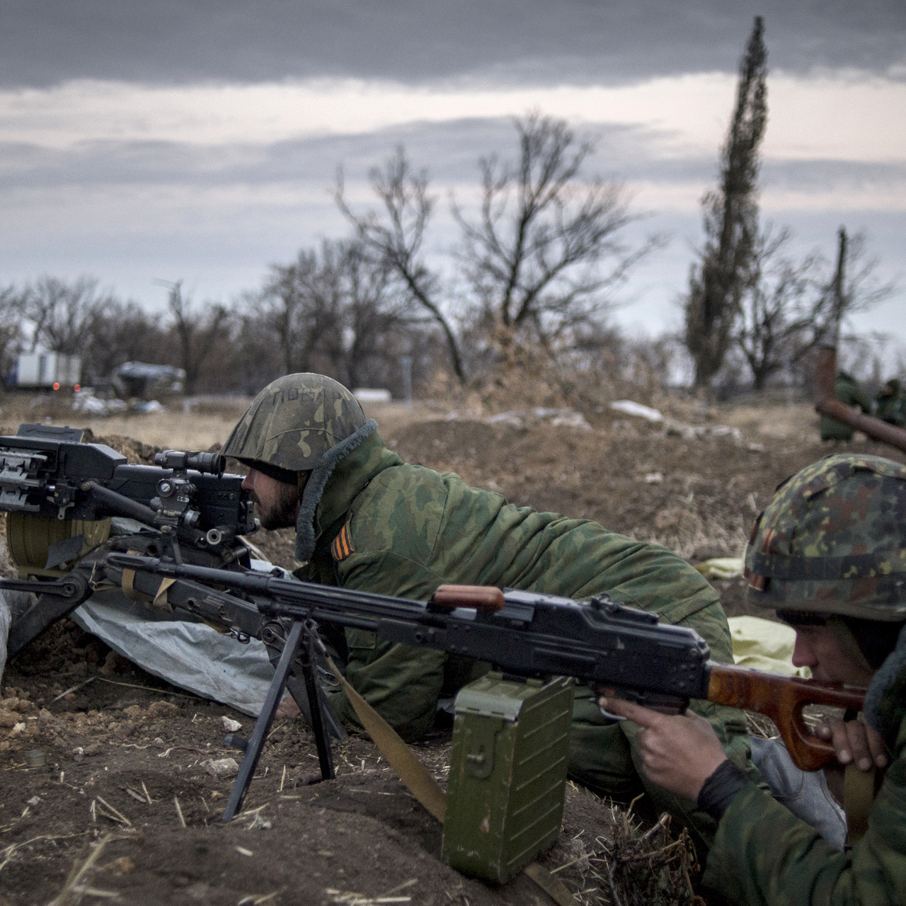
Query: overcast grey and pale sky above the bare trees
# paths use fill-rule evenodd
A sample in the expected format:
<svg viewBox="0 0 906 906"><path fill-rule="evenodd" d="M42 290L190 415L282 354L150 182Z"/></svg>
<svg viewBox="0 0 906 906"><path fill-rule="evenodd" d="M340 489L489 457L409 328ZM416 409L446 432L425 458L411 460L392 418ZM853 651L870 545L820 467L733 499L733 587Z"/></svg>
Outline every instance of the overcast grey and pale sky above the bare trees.
<svg viewBox="0 0 906 906"><path fill-rule="evenodd" d="M597 138L641 229L670 243L615 317L675 329L752 17L771 75L761 208L797 247L864 230L906 273L906 4L728 0L0 0L0 285L90 274L149 307L183 279L229 302L267 265L346 226L329 188L369 204L368 169L400 142L441 198L514 150L529 109ZM639 233L641 235L641 232ZM900 291L860 318L906 343Z"/></svg>

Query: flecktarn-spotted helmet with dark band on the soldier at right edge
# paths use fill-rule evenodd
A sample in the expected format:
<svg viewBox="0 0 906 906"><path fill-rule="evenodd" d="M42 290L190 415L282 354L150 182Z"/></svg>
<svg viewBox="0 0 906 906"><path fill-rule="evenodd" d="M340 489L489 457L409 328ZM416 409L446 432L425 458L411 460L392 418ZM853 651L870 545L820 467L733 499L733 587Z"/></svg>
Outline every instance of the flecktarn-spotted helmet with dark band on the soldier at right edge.
<svg viewBox="0 0 906 906"><path fill-rule="evenodd" d="M906 466L834 454L777 487L746 547L748 600L906 620Z"/></svg>

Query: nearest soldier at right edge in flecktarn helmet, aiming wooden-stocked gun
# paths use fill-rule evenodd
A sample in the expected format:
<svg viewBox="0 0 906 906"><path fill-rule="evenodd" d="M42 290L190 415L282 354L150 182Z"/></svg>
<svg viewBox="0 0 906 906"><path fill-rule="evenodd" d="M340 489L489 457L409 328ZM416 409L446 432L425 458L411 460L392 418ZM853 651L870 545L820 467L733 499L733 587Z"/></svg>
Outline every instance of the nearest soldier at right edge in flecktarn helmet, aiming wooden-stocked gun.
<svg viewBox="0 0 906 906"><path fill-rule="evenodd" d="M847 795L865 790L864 822L857 796L847 809L851 851L835 851L759 790L695 718L607 707L645 728L649 779L718 819L708 886L740 903L904 903L906 467L851 455L805 467L758 517L746 573L749 600L795 628L796 666L868 687L863 722L836 721L823 734L849 765Z"/></svg>

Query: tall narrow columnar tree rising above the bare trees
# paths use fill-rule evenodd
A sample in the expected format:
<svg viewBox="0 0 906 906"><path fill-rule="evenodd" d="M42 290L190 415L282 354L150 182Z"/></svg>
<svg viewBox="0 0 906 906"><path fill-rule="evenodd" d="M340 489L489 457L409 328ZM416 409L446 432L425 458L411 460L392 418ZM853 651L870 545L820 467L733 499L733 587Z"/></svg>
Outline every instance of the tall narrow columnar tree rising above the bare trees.
<svg viewBox="0 0 906 906"><path fill-rule="evenodd" d="M739 65L736 109L720 155L720 185L702 198L705 243L689 271L685 342L695 385L707 387L732 342L758 232L758 149L767 121L767 49L756 16Z"/></svg>

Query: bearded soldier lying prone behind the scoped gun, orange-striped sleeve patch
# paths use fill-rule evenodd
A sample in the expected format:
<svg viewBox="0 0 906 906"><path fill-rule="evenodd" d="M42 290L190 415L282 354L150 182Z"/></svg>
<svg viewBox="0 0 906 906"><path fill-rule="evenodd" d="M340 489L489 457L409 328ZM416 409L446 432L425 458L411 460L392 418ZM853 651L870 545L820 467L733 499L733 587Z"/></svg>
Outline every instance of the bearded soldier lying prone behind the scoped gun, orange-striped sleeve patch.
<svg viewBox="0 0 906 906"><path fill-rule="evenodd" d="M258 394L226 441L221 452L249 467L244 487L265 527L295 526L296 557L305 564L299 578L423 601L442 583L580 599L609 593L695 629L714 659L732 662L718 594L678 555L589 520L512 506L457 475L405 463L376 427L336 381L291 374ZM347 679L407 740L433 726L439 699L487 669L367 631L348 629L341 639L344 645L334 644L345 649ZM342 693L332 704L355 722ZM695 707L713 723L721 752L757 776L743 714L707 702ZM572 775L605 795L647 792L659 812L681 816L707 846L713 821L646 785L634 767L637 755L633 729L602 717L591 690L580 689Z"/></svg>

